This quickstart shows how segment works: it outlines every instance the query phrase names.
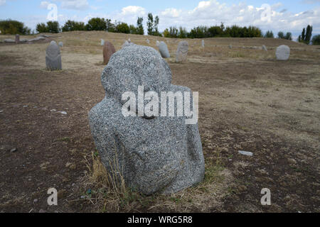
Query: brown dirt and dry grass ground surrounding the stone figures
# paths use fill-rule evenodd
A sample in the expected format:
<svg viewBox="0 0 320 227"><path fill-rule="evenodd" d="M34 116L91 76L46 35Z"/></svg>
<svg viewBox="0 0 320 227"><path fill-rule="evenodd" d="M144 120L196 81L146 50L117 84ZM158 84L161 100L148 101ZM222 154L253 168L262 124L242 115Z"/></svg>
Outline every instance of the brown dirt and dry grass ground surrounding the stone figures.
<svg viewBox="0 0 320 227"><path fill-rule="evenodd" d="M320 47L272 38L209 38L202 48L195 39L188 40L188 62L176 63L178 39L48 35L63 41L63 70L45 69L46 42L0 43L0 212L320 211ZM5 38L14 36L0 35ZM172 84L199 92L203 183L171 196L131 198L126 206L97 206L100 201L83 182L95 153L87 113L105 95L100 38L116 50L127 38L139 45L148 45L148 38L154 48L156 40L166 41ZM275 60L282 44L291 48L284 62ZM58 206L47 204L51 187L58 189ZM263 188L270 189L271 206L260 204Z"/></svg>

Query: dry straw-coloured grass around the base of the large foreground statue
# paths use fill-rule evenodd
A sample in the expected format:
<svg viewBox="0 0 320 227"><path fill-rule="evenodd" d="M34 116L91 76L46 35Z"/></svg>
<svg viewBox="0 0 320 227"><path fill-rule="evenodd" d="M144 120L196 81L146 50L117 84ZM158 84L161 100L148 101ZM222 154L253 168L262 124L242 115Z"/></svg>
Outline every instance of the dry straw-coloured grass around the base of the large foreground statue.
<svg viewBox="0 0 320 227"><path fill-rule="evenodd" d="M210 212L221 211L223 199L232 186L232 175L220 162L220 149L215 160L206 160L203 182L171 195L154 194L145 196L126 187L117 160L110 162L108 172L99 155L92 153L92 160L86 159L87 175L82 181L85 198L95 205L97 211L121 212ZM90 163L92 161L92 163Z"/></svg>

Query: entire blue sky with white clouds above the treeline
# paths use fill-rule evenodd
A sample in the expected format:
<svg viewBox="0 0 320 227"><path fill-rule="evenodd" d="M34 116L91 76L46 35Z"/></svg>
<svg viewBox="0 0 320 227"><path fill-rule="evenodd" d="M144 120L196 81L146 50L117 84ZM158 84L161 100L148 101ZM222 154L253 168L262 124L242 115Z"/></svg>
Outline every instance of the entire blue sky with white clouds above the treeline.
<svg viewBox="0 0 320 227"><path fill-rule="evenodd" d="M160 18L160 31L169 26L190 30L223 22L226 26L258 26L274 34L290 31L294 38L311 24L313 33L320 33L320 0L0 0L0 19L23 21L34 29L53 15L53 8L48 9L52 4L57 6L60 24L68 19L87 22L92 17L136 24L137 17L143 16L146 27L146 16L151 12Z"/></svg>

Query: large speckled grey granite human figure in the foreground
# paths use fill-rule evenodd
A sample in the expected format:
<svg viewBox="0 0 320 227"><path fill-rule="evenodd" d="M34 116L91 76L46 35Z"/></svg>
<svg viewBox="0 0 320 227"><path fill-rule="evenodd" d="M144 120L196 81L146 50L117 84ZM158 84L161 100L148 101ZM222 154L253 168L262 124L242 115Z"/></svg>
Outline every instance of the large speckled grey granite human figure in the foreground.
<svg viewBox="0 0 320 227"><path fill-rule="evenodd" d="M89 113L92 136L110 177L116 182L123 177L127 187L143 194L176 193L204 177L197 123L186 124L185 116L139 115L127 106L127 102L134 101L134 106L139 102L142 85L142 95L191 92L172 85L171 77L168 63L154 48L127 45L112 55L103 70L106 96ZM132 96L127 99L128 92L138 101ZM133 115L124 116L123 109Z"/></svg>

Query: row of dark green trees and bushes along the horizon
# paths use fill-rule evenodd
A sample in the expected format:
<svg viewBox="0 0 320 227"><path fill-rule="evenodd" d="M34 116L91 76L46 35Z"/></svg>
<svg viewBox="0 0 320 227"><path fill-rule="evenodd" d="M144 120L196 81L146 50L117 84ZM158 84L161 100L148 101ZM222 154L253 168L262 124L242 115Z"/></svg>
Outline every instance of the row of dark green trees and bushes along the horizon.
<svg viewBox="0 0 320 227"><path fill-rule="evenodd" d="M144 35L144 18L138 17L137 25L128 25L127 23L111 22L110 19L105 18L91 18L87 24L77 21L67 21L60 27L58 21L48 21L47 23L38 23L36 26L36 31L38 33L59 33L60 31L109 31L114 33L128 33L128 34L138 34ZM159 35L166 38L210 38L210 37L235 37L235 38L251 38L251 37L265 37L274 38L274 33L272 31L267 31L262 34L260 28L255 26L240 27L240 26L228 26L225 28L224 24L221 23L220 26L198 26L192 28L190 32L186 31L186 28L179 27L176 28L171 26L166 28L163 33L159 32L159 17L153 16L152 13L148 14L148 21L146 22L148 35ZM1 34L20 34L20 35L30 35L31 29L24 26L20 21L5 20L0 21L0 31ZM314 35L312 37L312 26L308 25L303 28L302 35L299 35L298 42L306 44L320 45L320 35ZM292 40L292 33L279 31L277 38L284 38L287 40Z"/></svg>

